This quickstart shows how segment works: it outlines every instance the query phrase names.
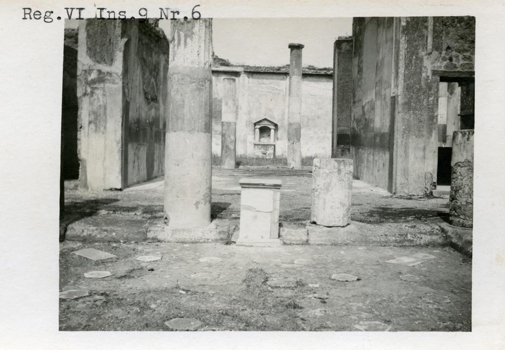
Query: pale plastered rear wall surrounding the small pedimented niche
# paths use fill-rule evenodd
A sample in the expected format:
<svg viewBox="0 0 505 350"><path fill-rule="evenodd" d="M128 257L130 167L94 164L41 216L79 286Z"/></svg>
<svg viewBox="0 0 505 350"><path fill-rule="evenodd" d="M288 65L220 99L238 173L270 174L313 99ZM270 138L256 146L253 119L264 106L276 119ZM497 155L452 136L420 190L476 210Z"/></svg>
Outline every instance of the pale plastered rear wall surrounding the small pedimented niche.
<svg viewBox="0 0 505 350"><path fill-rule="evenodd" d="M237 79L237 155L254 155L254 123L267 118L278 125L276 156L286 156L289 75L265 72L213 72L212 152L221 153L222 80ZM332 76L302 77L302 157L331 154Z"/></svg>

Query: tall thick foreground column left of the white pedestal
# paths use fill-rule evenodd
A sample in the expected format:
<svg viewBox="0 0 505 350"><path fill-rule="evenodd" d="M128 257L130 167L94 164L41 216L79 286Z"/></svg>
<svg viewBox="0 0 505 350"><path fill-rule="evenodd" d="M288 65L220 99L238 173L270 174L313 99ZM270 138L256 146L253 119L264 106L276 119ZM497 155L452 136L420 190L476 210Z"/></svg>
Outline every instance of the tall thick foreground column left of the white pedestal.
<svg viewBox="0 0 505 350"><path fill-rule="evenodd" d="M165 223L211 220L212 19L171 21L165 146Z"/></svg>

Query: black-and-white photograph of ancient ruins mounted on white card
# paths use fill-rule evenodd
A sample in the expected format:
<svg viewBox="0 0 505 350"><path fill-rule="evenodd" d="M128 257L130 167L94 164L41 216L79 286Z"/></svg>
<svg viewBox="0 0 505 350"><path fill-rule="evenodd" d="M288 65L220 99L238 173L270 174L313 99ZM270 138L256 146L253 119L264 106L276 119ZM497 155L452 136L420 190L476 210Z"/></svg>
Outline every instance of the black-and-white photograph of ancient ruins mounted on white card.
<svg viewBox="0 0 505 350"><path fill-rule="evenodd" d="M471 331L474 58L471 16L69 21L60 330Z"/></svg>

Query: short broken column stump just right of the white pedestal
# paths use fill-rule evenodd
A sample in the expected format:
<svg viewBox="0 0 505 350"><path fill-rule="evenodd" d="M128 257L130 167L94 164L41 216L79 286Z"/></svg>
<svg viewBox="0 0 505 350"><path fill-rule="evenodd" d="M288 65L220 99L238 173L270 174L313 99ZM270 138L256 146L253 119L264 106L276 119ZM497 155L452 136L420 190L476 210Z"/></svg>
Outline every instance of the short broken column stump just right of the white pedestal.
<svg viewBox="0 0 505 350"><path fill-rule="evenodd" d="M350 222L352 160L314 159L311 222L345 226Z"/></svg>

